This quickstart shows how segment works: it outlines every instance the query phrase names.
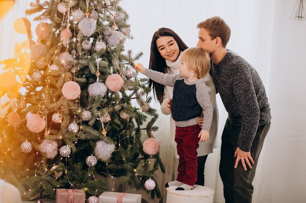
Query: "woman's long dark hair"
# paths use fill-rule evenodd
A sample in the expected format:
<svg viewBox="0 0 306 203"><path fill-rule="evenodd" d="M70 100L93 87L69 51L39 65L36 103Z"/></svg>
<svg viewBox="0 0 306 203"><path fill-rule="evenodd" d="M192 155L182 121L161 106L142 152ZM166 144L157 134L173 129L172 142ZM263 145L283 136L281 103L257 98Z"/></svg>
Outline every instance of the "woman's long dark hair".
<svg viewBox="0 0 306 203"><path fill-rule="evenodd" d="M152 69L154 71L158 71L161 73L166 72L167 65L166 65L165 58L163 58L159 54L159 51L156 45L156 40L159 37L164 37L164 36L173 37L180 51L184 51L185 49L188 48L187 45L183 42L183 40L180 37L178 37L178 35L173 30L169 28L164 28L164 27L159 28L152 37L149 69ZM149 80L149 85L150 87L153 87L154 98L155 99L157 98L158 102L161 104L163 101L163 94L164 94L165 86L159 83L156 83L151 79Z"/></svg>

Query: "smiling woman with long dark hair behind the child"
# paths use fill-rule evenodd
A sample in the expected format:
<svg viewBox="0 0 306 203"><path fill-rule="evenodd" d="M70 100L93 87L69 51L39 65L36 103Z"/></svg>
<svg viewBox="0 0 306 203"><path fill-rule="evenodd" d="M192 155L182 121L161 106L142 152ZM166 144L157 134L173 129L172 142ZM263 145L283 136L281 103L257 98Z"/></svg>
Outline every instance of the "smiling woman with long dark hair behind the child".
<svg viewBox="0 0 306 203"><path fill-rule="evenodd" d="M151 42L151 54L149 69L154 71L179 74L179 64L181 63L180 54L187 49L187 45L178 35L169 28L159 28L154 34ZM215 148L215 138L218 129L218 110L215 106L216 90L212 77L209 74L204 76L205 84L211 89L211 101L213 103L214 114L211 129L209 131L209 139L206 142L199 142L199 148L197 149L197 183L196 185L204 185L204 168L207 156L213 152ZM173 87L164 86L158 84L152 80L149 81L149 85L153 87L154 97L157 98L161 106L161 111L165 115L171 114L171 101L173 95ZM198 121L202 125L202 120ZM176 152L175 138L175 123L173 118L170 118L170 145L175 149L175 157L178 158ZM169 156L167 156L169 157ZM172 167L177 168L177 167ZM174 179L174 177L171 177Z"/></svg>

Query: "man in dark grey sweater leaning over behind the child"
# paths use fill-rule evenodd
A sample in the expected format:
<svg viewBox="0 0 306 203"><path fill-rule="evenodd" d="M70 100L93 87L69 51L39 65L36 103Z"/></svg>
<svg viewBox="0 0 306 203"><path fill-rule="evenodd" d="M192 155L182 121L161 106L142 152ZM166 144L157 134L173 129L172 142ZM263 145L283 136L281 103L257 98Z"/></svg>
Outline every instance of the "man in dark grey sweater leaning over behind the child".
<svg viewBox="0 0 306 203"><path fill-rule="evenodd" d="M197 28L197 46L210 55L210 74L228 112L219 166L225 202L251 203L258 158L270 128L268 99L256 70L226 49L231 29L224 20L208 18Z"/></svg>

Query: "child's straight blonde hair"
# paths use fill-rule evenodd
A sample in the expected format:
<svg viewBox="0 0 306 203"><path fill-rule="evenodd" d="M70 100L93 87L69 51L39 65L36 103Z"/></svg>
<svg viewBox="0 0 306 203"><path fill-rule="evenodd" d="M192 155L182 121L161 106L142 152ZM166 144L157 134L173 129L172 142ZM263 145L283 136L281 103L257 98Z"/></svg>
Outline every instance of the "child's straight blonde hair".
<svg viewBox="0 0 306 203"><path fill-rule="evenodd" d="M181 60L189 70L193 70L198 78L204 77L209 71L209 55L200 47L191 47L182 53Z"/></svg>

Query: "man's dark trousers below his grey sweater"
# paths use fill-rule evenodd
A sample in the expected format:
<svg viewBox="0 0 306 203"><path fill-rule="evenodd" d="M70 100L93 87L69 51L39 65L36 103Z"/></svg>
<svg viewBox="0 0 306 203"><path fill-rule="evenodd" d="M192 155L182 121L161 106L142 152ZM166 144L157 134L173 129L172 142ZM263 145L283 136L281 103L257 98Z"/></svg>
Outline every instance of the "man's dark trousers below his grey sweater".
<svg viewBox="0 0 306 203"><path fill-rule="evenodd" d="M219 172L223 182L223 193L225 203L251 203L253 194L252 182L255 177L258 158L262 150L264 138L270 129L270 123L258 127L251 147L251 156L254 160L252 169L247 167L244 171L241 162L234 168L236 158L234 158L237 148L239 126L231 125L229 119L226 120L222 133L221 155Z"/></svg>

